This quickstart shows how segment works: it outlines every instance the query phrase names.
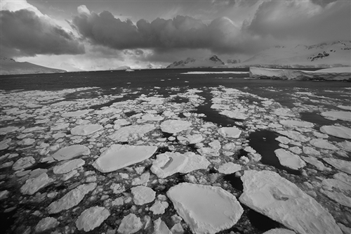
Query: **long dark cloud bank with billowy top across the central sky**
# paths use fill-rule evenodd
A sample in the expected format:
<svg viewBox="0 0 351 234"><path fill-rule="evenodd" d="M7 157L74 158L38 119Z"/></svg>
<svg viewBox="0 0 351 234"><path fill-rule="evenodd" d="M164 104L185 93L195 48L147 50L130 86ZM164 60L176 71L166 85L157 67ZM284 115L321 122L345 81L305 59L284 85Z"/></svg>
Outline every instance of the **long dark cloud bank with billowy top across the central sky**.
<svg viewBox="0 0 351 234"><path fill-rule="evenodd" d="M207 48L213 52L233 53L244 51L252 40L239 36L239 29L227 18L218 18L209 25L189 16L171 20L157 18L152 22L121 21L108 11L80 13L72 20L74 27L91 44L119 50L151 48L170 51L175 48ZM236 40L237 43L234 41Z"/></svg>

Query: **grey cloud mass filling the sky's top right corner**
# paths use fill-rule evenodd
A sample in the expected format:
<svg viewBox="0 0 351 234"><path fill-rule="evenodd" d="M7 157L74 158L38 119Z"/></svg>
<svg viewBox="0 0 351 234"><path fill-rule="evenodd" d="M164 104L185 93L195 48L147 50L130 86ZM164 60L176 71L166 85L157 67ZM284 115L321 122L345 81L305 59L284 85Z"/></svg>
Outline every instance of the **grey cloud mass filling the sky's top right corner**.
<svg viewBox="0 0 351 234"><path fill-rule="evenodd" d="M277 39L350 40L350 1L322 7L312 1L267 1L245 30Z"/></svg>

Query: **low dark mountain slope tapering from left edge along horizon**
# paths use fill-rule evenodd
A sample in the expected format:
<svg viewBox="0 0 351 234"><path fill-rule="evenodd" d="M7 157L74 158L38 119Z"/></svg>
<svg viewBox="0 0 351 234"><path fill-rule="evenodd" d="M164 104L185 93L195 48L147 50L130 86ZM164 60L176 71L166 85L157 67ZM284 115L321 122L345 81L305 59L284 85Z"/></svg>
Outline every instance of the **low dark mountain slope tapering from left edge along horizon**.
<svg viewBox="0 0 351 234"><path fill-rule="evenodd" d="M28 62L16 62L12 58L0 58L0 74L60 73L65 70L43 67Z"/></svg>

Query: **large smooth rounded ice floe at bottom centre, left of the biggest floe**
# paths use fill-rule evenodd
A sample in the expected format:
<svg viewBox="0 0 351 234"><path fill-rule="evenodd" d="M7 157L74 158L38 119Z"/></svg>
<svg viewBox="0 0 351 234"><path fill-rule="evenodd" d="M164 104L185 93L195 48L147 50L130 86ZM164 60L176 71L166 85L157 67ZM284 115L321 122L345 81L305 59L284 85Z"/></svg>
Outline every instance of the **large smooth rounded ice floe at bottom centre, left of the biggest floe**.
<svg viewBox="0 0 351 234"><path fill-rule="evenodd" d="M180 183L170 188L167 196L194 233L231 228L244 212L237 198L220 187Z"/></svg>

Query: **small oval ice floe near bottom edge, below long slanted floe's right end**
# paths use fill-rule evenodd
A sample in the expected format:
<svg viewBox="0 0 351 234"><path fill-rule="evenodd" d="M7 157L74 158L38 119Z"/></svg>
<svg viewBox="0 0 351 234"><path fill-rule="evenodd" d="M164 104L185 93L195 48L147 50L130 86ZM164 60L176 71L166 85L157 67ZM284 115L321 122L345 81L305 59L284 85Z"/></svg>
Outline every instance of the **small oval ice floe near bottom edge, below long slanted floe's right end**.
<svg viewBox="0 0 351 234"><path fill-rule="evenodd" d="M110 216L110 211L105 207L90 207L79 215L76 225L78 230L88 232L101 225Z"/></svg>

